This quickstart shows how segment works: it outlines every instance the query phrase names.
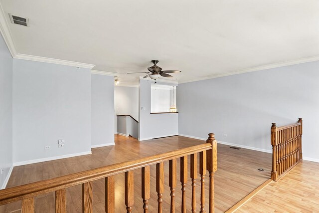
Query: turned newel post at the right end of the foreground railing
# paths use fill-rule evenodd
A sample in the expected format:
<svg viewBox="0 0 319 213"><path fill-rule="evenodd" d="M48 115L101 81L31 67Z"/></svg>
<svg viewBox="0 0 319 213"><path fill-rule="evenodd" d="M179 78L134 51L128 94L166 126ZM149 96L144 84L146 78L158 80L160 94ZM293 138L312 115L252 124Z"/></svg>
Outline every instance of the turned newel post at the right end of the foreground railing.
<svg viewBox="0 0 319 213"><path fill-rule="evenodd" d="M217 170L217 141L215 140L215 134L209 133L209 137L206 140L210 143L212 149L206 151L207 156L207 171L209 172L209 213L215 211L215 197L214 197L214 176Z"/></svg>

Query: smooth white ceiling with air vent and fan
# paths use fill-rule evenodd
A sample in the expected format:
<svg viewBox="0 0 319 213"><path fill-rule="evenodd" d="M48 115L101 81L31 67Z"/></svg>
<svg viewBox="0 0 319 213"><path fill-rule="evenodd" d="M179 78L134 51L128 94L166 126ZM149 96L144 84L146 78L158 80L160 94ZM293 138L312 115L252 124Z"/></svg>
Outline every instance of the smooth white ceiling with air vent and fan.
<svg viewBox="0 0 319 213"><path fill-rule="evenodd" d="M123 73L147 72L152 59L181 70L178 82L319 59L319 0L0 3L17 53L95 64L125 84L140 75ZM8 13L28 17L30 27Z"/></svg>

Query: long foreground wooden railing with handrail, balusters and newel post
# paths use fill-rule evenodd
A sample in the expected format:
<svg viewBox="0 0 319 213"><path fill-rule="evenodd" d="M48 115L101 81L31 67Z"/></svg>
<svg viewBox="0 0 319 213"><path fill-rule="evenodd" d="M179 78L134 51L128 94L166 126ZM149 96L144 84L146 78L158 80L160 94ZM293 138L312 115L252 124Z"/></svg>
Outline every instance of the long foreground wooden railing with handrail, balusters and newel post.
<svg viewBox="0 0 319 213"><path fill-rule="evenodd" d="M22 213L34 213L34 197L55 192L55 212L66 213L66 188L82 184L82 212L93 212L92 182L105 179L105 212L115 212L114 175L125 173L125 205L128 213L134 205L134 170L142 169L142 199L144 213L148 213L150 199L150 166L156 165L156 191L158 193L158 213L162 212L164 190L164 162L169 162L170 212L175 213L176 159L180 158L181 212L186 213L185 193L187 184L187 156L190 155L190 178L192 179L191 211L195 212L195 182L197 177L197 154L199 153L199 173L201 177L200 212L205 212L205 173L209 172L209 213L214 213L214 173L217 170L217 141L214 134L208 134L205 144L178 149L134 161L104 166L49 180L25 184L0 190L0 206L22 201Z"/></svg>

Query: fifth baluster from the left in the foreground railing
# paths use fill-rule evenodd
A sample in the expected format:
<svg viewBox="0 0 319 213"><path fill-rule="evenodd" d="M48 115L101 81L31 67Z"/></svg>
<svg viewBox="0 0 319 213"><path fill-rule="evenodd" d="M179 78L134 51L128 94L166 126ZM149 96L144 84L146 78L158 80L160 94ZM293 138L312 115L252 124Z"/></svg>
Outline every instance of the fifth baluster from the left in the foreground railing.
<svg viewBox="0 0 319 213"><path fill-rule="evenodd" d="M129 171L125 173L125 205L127 213L132 213L134 205L134 173Z"/></svg>

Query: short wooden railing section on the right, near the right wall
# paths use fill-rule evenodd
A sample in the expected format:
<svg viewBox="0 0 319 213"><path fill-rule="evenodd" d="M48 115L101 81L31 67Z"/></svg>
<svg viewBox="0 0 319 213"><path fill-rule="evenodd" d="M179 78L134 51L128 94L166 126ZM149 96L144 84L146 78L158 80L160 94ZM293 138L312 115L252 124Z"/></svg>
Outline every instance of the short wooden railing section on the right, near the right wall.
<svg viewBox="0 0 319 213"><path fill-rule="evenodd" d="M296 124L277 127L272 123L271 145L273 146L273 165L271 179L279 180L303 160L302 152L303 119Z"/></svg>

